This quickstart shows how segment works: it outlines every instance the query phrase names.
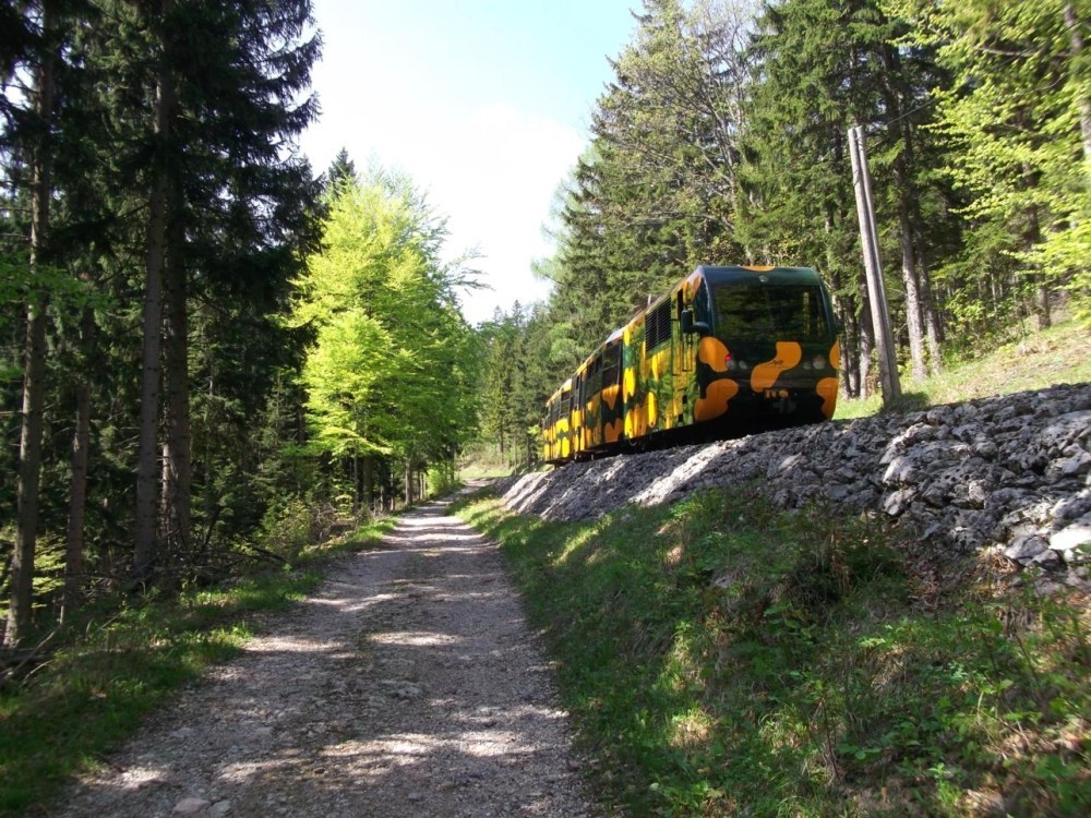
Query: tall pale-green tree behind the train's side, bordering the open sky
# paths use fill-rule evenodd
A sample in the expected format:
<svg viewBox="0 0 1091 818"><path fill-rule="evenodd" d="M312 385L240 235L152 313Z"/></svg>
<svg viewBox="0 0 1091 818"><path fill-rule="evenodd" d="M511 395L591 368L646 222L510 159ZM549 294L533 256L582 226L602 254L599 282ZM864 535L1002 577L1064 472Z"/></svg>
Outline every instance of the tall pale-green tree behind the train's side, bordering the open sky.
<svg viewBox="0 0 1091 818"><path fill-rule="evenodd" d="M694 266L743 252L745 8L647 0L637 20L560 207L553 345L573 366Z"/></svg>

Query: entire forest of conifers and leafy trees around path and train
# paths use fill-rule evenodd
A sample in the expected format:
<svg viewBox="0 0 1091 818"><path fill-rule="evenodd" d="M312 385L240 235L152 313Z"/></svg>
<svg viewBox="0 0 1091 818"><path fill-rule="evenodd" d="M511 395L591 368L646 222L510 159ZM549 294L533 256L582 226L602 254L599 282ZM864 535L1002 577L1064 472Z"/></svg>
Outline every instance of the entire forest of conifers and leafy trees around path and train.
<svg viewBox="0 0 1091 818"><path fill-rule="evenodd" d="M412 502L475 435L529 465L548 395L697 264L816 267L866 395L852 125L909 375L1091 322L1086 0L644 0L560 180L549 299L477 328L411 181L300 153L311 12L0 7L9 645L227 570L299 508Z"/></svg>

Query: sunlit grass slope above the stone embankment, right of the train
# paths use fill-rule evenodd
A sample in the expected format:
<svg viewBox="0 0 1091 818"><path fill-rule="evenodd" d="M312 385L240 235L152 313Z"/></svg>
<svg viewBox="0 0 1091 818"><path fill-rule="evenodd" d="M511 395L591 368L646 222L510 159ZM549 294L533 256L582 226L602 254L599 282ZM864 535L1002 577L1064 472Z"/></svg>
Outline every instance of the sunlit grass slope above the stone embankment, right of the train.
<svg viewBox="0 0 1091 818"><path fill-rule="evenodd" d="M971 360L946 361L940 374L924 382L901 375L903 397L895 409L918 409L939 404L1041 389L1058 383L1091 382L1091 329L1071 321L1043 332L1026 332ZM836 418L877 413L879 395L840 400Z"/></svg>

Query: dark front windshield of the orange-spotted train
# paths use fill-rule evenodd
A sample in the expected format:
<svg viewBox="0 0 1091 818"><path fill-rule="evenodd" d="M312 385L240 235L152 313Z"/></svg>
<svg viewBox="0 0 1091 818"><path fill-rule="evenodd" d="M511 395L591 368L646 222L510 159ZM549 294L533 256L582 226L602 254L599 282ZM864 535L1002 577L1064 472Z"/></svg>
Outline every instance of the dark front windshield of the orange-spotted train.
<svg viewBox="0 0 1091 818"><path fill-rule="evenodd" d="M712 289L723 341L829 338L822 288L813 284L720 282Z"/></svg>

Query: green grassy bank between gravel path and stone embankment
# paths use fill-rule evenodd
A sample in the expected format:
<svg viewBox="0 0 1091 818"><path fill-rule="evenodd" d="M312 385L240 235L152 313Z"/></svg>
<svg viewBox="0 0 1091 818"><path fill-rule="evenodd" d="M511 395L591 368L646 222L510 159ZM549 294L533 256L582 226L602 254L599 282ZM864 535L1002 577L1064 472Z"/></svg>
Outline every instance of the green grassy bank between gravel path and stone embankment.
<svg viewBox="0 0 1091 818"><path fill-rule="evenodd" d="M1084 598L924 580L879 520L752 488L598 521L460 514L509 558L618 815L1091 810Z"/></svg>

